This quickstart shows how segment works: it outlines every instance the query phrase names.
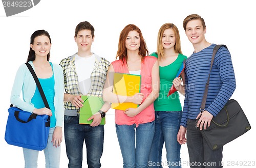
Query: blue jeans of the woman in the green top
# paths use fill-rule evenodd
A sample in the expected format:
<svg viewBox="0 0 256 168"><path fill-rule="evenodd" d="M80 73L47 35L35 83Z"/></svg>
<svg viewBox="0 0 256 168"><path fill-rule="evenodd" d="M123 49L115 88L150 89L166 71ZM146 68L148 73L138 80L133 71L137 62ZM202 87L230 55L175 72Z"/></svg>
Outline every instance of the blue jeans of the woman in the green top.
<svg viewBox="0 0 256 168"><path fill-rule="evenodd" d="M177 134L180 128L182 111L155 111L155 135L151 147L149 167L181 167L180 148ZM167 162L162 163L162 150L165 144Z"/></svg>

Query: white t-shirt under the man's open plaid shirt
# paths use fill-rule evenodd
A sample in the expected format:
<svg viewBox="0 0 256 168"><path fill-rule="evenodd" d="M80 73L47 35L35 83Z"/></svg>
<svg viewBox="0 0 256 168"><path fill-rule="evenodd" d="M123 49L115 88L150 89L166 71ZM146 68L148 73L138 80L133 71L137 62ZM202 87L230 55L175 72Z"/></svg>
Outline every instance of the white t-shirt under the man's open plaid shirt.
<svg viewBox="0 0 256 168"><path fill-rule="evenodd" d="M83 58L78 54L75 56L76 73L78 76L78 87L83 95L87 95L91 89L91 73L94 68L95 55Z"/></svg>

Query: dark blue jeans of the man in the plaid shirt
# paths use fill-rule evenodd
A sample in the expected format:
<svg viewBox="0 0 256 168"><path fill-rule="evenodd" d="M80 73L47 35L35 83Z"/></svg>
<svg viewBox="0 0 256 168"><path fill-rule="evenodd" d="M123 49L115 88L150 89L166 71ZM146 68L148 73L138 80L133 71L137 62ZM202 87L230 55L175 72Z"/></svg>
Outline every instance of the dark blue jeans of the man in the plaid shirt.
<svg viewBox="0 0 256 168"><path fill-rule="evenodd" d="M79 116L64 117L66 152L70 168L82 167L83 142L86 143L89 168L99 168L103 152L104 125L79 124Z"/></svg>

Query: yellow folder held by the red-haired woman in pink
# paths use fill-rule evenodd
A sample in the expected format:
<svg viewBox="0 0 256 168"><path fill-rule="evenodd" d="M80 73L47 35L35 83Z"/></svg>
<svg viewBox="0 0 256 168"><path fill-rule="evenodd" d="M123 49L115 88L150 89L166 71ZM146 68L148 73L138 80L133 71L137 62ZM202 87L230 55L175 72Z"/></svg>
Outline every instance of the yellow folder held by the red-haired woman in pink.
<svg viewBox="0 0 256 168"><path fill-rule="evenodd" d="M141 76L125 73L114 73L113 93L121 96L133 96L140 92ZM137 108L138 104L132 102L112 103L111 108L125 110Z"/></svg>

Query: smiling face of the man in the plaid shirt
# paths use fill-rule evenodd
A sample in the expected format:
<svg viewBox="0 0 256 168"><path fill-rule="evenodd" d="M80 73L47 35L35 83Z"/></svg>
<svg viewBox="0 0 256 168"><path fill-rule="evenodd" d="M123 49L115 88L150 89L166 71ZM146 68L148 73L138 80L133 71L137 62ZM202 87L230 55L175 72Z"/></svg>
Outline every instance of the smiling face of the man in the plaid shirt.
<svg viewBox="0 0 256 168"><path fill-rule="evenodd" d="M91 52L91 46L94 41L90 30L81 30L75 37L78 52Z"/></svg>

